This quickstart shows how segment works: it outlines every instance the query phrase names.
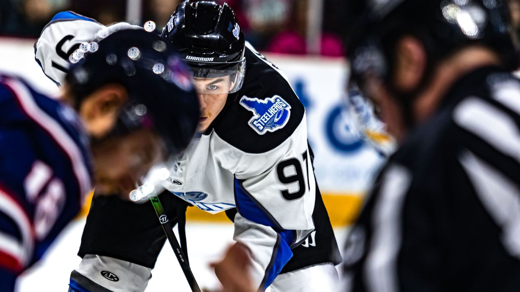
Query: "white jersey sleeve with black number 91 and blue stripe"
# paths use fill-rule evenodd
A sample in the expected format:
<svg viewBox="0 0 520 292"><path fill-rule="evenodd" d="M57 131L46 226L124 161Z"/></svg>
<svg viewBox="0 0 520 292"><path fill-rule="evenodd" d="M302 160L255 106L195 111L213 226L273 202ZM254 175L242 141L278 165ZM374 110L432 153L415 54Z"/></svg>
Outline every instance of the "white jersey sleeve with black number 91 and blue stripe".
<svg viewBox="0 0 520 292"><path fill-rule="evenodd" d="M235 237L251 250L253 274L267 288L314 230L316 184L306 140L294 141L263 155L244 154L235 175Z"/></svg>

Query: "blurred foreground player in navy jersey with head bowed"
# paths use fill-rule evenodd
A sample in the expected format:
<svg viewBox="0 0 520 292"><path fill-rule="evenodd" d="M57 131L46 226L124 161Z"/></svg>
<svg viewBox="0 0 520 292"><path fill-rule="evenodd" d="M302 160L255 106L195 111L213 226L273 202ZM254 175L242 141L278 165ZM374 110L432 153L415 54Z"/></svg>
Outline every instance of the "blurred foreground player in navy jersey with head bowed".
<svg viewBox="0 0 520 292"><path fill-rule="evenodd" d="M172 47L144 30L107 35L73 51L61 101L0 76L0 291L42 258L94 183L127 197L196 131L198 100Z"/></svg>

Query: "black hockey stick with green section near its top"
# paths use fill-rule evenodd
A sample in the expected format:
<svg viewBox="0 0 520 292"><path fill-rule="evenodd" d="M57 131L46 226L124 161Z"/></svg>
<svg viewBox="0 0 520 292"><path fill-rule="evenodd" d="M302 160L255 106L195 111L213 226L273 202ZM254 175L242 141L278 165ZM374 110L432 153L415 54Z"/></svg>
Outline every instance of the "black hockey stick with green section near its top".
<svg viewBox="0 0 520 292"><path fill-rule="evenodd" d="M184 255L183 250L180 249L177 237L173 233L172 224L170 224L170 220L168 220L168 217L166 216L166 213L164 212L164 209L161 205L161 201L159 201L159 197L156 193L150 194L150 201L152 201L155 213L157 213L157 217L159 217L159 221L161 222L164 233L166 233L166 238L168 238L168 242L170 243L170 246L172 246L173 252L179 261L180 268L183 269L184 276L190 285L191 291L201 292L199 284L197 284L197 281L191 272L188 261L186 260L186 256Z"/></svg>

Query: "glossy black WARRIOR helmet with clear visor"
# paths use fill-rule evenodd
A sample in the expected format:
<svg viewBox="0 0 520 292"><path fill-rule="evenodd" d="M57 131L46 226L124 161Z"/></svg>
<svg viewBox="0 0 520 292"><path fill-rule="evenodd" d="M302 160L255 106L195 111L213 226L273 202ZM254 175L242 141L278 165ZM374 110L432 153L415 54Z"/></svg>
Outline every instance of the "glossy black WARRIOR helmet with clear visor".
<svg viewBox="0 0 520 292"><path fill-rule="evenodd" d="M188 0L179 4L162 30L191 68L193 78L230 76L231 88L202 88L208 94L240 90L245 73L245 39L235 12L225 3Z"/></svg>

